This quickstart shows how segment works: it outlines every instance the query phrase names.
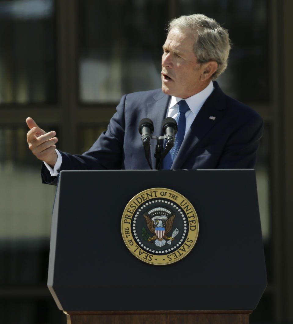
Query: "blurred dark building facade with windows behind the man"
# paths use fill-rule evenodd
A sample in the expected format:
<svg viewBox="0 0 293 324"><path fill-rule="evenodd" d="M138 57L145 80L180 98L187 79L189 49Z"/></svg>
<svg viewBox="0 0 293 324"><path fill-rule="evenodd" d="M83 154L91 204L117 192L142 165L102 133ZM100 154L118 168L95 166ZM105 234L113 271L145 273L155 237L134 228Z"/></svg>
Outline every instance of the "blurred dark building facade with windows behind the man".
<svg viewBox="0 0 293 324"><path fill-rule="evenodd" d="M265 121L256 174L269 284L251 323L293 322L293 1L0 0L3 322L66 322L46 288L55 187L41 184L26 117L54 129L61 150L84 152L123 94L161 86L166 23L191 13L229 30L218 82Z"/></svg>

